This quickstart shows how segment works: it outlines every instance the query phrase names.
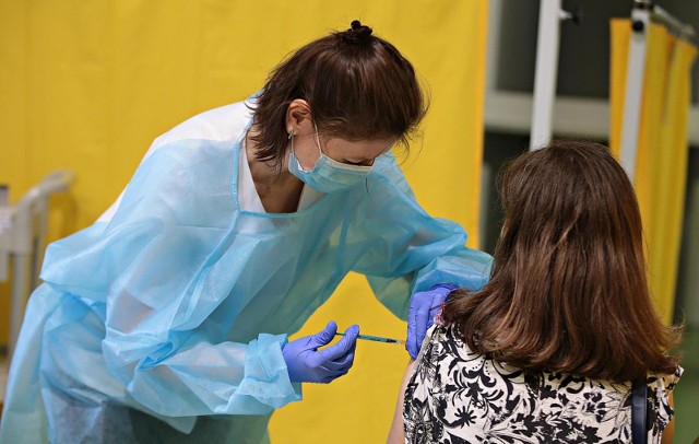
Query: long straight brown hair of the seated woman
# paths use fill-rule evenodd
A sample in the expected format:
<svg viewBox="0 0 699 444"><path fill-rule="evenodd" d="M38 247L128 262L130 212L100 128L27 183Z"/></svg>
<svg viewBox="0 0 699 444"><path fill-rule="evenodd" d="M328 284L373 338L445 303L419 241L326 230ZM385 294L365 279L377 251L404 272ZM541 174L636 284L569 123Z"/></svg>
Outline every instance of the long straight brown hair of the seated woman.
<svg viewBox="0 0 699 444"><path fill-rule="evenodd" d="M505 224L490 281L442 317L469 347L525 371L615 382L673 373L679 328L649 295L633 188L604 145L558 141L499 176Z"/></svg>

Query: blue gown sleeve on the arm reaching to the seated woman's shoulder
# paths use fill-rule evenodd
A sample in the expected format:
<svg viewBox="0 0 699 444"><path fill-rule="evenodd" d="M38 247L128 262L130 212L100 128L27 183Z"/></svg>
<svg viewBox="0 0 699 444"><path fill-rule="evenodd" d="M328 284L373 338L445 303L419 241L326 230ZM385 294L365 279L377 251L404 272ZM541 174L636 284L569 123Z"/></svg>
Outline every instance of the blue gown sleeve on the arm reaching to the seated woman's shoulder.
<svg viewBox="0 0 699 444"><path fill-rule="evenodd" d="M366 252L354 270L367 276L377 299L402 319L410 295L438 283L476 290L493 258L465 246L455 222L430 217L416 201L395 159L386 155L368 183L368 214L360 226Z"/></svg>

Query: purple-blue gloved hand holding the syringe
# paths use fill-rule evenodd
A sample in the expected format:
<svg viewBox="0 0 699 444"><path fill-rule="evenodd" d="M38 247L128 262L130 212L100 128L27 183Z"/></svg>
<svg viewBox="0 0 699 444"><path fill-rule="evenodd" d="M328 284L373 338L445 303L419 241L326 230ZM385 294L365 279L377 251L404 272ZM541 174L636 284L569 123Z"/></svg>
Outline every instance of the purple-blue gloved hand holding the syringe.
<svg viewBox="0 0 699 444"><path fill-rule="evenodd" d="M282 354L292 382L327 384L350 371L357 347L358 326L347 328L345 336L334 346L318 350L330 343L336 331L337 324L331 320L317 335L306 336L284 346Z"/></svg>

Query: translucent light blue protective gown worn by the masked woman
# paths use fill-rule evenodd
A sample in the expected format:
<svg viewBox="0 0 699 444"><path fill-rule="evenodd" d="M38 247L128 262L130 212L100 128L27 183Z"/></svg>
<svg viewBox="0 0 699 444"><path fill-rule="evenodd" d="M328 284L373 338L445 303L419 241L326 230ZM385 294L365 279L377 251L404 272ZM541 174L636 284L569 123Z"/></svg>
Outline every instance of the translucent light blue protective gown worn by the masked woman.
<svg viewBox="0 0 699 444"><path fill-rule="evenodd" d="M2 443L264 442L301 398L286 335L347 272L401 318L412 292L485 283L490 257L416 203L392 154L298 212L241 208L250 122L238 103L163 135L94 225L47 248Z"/></svg>

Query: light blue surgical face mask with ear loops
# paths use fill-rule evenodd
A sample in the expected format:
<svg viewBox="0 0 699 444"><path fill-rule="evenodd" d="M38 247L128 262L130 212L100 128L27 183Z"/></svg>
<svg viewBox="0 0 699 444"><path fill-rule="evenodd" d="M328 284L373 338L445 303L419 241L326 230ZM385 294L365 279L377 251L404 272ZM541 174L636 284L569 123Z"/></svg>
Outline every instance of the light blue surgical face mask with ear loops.
<svg viewBox="0 0 699 444"><path fill-rule="evenodd" d="M313 127L316 122L313 121ZM365 182L371 171L371 166L348 165L330 159L320 148L318 128L316 127L316 144L320 152L320 157L311 171L301 167L294 153L294 133L289 133L292 140L292 152L288 156L288 171L301 182L313 188L316 191L327 195L343 191Z"/></svg>

